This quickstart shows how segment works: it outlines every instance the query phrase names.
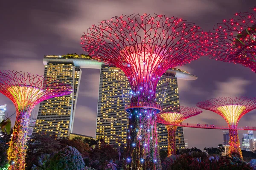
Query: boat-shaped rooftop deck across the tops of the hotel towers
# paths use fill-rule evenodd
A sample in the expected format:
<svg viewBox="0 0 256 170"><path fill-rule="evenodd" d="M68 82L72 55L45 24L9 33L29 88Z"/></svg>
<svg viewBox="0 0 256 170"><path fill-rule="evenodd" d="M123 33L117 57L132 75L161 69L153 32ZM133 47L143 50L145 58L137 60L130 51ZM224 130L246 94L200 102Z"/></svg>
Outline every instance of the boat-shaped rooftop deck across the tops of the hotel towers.
<svg viewBox="0 0 256 170"><path fill-rule="evenodd" d="M71 54L69 54L71 55ZM44 56L43 63L47 65L48 63L72 63L76 67L80 68L92 68L92 69L100 69L103 62L99 62L96 59L91 58L90 56L86 55L78 55L73 54L73 56L63 55L63 56L56 56L56 55L47 55ZM113 66L115 67L115 66ZM196 80L196 77L189 72L180 70L178 68L170 68L166 71L167 74L174 74L177 79L184 79L184 80Z"/></svg>

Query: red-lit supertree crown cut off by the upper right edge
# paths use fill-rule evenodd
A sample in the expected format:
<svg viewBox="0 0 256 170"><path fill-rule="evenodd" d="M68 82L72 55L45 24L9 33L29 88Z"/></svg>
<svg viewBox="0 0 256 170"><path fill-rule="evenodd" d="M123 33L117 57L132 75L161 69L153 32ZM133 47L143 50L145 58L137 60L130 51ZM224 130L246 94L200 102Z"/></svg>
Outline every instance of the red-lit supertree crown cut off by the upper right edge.
<svg viewBox="0 0 256 170"><path fill-rule="evenodd" d="M209 57L256 72L256 7L218 23L209 37Z"/></svg>

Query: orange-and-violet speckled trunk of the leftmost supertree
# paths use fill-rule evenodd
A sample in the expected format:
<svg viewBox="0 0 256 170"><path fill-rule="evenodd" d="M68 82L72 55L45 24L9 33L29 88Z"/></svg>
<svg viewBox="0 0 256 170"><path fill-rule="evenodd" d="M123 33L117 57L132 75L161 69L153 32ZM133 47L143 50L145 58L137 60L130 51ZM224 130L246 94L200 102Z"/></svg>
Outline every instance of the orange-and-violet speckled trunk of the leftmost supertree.
<svg viewBox="0 0 256 170"><path fill-rule="evenodd" d="M26 158L26 142L28 140L29 115L31 111L17 111L13 136L8 149L9 170L24 170Z"/></svg>

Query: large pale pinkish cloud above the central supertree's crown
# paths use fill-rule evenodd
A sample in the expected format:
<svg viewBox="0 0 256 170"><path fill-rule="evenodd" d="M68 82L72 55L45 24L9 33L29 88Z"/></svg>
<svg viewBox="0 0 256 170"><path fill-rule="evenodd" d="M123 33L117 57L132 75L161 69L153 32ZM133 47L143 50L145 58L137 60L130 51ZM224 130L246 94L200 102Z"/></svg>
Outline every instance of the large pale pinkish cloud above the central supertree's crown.
<svg viewBox="0 0 256 170"><path fill-rule="evenodd" d="M167 14L168 16L197 18L202 14L217 13L217 10L223 8L223 4L219 4L215 1L205 0L178 0L170 2L169 0L162 0L161 4L159 0L78 0L76 3L72 2L59 2L64 3L66 6L76 10L70 10L71 14L65 18L53 21L46 20L44 26L49 25L55 34L60 35L62 38L62 45L70 46L70 41L79 43L83 32L87 31L88 27L92 24L105 19L111 19L111 17L119 16L121 14ZM90 8L88 8L90 6ZM210 8L209 8L210 6ZM42 14L47 16L56 17L55 14L49 11L34 11L33 16L41 16ZM39 16L39 17L40 17ZM57 14L61 16L61 14ZM59 18L57 17L57 18ZM35 17L36 18L36 17ZM36 23L41 24L41 20L35 19ZM40 21L40 22L38 22ZM63 36L65 35L65 36Z"/></svg>

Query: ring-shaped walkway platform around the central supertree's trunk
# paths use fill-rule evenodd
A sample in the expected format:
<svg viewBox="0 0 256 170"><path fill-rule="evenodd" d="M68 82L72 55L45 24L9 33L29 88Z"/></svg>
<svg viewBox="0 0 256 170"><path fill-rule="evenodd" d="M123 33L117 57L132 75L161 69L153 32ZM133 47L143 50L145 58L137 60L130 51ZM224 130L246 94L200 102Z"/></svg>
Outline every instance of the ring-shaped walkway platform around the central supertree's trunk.
<svg viewBox="0 0 256 170"><path fill-rule="evenodd" d="M134 110L134 109L148 109L148 110L155 111L156 114L162 111L161 106L156 103L140 102L140 103L131 103L125 106L125 111L128 113L131 113L131 110Z"/></svg>

